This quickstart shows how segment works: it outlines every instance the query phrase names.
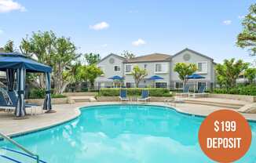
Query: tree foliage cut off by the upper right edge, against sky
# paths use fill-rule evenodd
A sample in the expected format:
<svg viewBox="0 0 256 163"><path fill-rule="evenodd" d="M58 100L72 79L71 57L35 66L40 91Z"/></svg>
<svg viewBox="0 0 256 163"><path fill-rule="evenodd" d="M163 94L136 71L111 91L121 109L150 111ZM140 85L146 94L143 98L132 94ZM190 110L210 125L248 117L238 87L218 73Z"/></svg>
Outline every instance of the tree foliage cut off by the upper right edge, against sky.
<svg viewBox="0 0 256 163"><path fill-rule="evenodd" d="M236 45L241 48L247 48L251 56L256 55L256 3L251 5L249 13L244 17L243 31L238 34Z"/></svg>

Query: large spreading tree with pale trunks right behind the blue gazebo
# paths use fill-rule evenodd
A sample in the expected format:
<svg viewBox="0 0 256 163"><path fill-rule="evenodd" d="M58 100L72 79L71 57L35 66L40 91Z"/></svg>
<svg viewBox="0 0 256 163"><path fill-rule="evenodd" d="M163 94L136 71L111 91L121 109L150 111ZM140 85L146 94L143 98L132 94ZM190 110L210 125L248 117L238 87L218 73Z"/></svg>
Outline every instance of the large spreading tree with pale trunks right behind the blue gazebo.
<svg viewBox="0 0 256 163"><path fill-rule="evenodd" d="M53 67L54 92L60 94L72 82L71 72L75 61L81 56L70 38L57 38L53 31L33 32L31 38L23 38L20 51L34 57L40 63ZM69 76L68 76L69 75ZM37 77L35 77L37 79ZM37 81L37 80L35 80ZM45 87L45 75L39 75L41 88Z"/></svg>

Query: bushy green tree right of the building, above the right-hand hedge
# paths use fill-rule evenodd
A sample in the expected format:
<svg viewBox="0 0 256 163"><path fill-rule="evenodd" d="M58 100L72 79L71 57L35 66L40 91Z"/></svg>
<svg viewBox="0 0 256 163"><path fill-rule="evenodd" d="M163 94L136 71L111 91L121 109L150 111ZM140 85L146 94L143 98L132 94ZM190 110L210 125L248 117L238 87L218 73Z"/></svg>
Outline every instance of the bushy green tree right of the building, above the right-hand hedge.
<svg viewBox="0 0 256 163"><path fill-rule="evenodd" d="M224 63L218 63L215 67L217 73L217 79L221 79L227 89L236 85L236 79L240 73L247 69L249 63L244 63L243 60L237 60L232 58L231 60L224 60Z"/></svg>

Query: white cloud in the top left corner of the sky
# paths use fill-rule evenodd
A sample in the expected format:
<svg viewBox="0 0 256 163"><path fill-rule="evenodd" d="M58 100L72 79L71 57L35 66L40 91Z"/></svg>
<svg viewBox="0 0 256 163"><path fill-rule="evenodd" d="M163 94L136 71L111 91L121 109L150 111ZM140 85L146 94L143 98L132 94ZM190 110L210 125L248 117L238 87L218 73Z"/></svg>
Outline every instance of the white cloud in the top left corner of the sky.
<svg viewBox="0 0 256 163"><path fill-rule="evenodd" d="M13 2L13 0L0 0L0 13L9 13L13 10L20 12L26 11L25 7L18 2Z"/></svg>

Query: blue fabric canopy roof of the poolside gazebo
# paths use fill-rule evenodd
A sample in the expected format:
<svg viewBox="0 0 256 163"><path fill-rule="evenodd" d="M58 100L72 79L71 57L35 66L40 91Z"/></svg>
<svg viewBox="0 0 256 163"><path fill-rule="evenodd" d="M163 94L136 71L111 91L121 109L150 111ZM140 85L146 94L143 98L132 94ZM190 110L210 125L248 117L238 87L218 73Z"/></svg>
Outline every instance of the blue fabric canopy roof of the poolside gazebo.
<svg viewBox="0 0 256 163"><path fill-rule="evenodd" d="M27 72L52 72L52 68L20 53L0 53L0 71L25 69Z"/></svg>

